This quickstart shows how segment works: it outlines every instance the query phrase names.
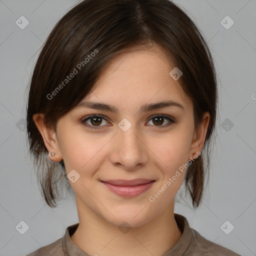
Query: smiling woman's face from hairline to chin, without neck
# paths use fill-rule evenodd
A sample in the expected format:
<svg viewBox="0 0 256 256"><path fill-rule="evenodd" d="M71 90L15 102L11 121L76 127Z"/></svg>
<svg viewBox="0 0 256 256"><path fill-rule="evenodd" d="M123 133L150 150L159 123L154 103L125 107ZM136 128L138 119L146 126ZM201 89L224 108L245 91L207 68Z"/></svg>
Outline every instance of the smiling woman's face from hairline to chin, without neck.
<svg viewBox="0 0 256 256"><path fill-rule="evenodd" d="M71 171L78 214L139 226L173 204L184 164L205 135L194 128L192 101L169 75L173 68L157 47L118 55L91 93L58 120L55 156ZM169 104L155 105L162 101Z"/></svg>

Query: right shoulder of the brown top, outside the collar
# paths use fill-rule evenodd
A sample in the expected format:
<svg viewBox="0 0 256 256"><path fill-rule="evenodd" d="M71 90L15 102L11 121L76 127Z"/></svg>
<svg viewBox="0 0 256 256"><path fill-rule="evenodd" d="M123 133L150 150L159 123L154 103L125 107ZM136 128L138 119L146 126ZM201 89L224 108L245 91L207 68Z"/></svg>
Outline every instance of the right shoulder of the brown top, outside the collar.
<svg viewBox="0 0 256 256"><path fill-rule="evenodd" d="M191 228L192 234L195 237L196 253L192 255L200 256L241 256L232 250L229 250L217 243L207 240L201 236L196 230Z"/></svg>

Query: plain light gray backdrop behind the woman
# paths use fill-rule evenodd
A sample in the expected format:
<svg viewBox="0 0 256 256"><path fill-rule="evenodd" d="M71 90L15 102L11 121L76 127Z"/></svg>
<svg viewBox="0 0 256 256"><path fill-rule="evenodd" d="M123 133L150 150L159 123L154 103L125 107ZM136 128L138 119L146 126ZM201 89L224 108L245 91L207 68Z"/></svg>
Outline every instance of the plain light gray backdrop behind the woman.
<svg viewBox="0 0 256 256"><path fill-rule="evenodd" d="M25 255L78 222L72 196L55 209L45 205L27 157L23 126L25 86L39 49L53 25L78 2L0 0L0 255ZM219 83L217 139L203 202L194 211L187 199L181 200L175 212L205 238L256 255L256 0L174 2L202 31ZM29 21L24 29L15 24L21 15ZM226 15L234 21L229 29L220 23ZM21 220L29 226L24 234L15 229ZM229 234L220 228L226 220L234 226ZM230 224L224 227L228 230Z"/></svg>

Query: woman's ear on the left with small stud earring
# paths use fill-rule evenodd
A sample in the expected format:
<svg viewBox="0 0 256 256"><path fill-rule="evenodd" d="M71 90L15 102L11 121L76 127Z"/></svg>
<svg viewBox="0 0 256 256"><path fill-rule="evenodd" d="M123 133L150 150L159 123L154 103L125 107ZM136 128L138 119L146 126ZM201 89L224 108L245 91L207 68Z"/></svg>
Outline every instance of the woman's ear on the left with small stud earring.
<svg viewBox="0 0 256 256"><path fill-rule="evenodd" d="M53 128L46 126L46 124L44 123L44 114L43 113L34 114L33 121L34 121L37 129L41 133L43 142L44 142L46 148L48 149L48 152L49 152L48 154L49 154L50 160L52 160L54 162L58 162L58 161L62 160L58 142L57 142L57 138L56 138L56 133L53 130ZM51 155L52 152L54 152L54 155Z"/></svg>

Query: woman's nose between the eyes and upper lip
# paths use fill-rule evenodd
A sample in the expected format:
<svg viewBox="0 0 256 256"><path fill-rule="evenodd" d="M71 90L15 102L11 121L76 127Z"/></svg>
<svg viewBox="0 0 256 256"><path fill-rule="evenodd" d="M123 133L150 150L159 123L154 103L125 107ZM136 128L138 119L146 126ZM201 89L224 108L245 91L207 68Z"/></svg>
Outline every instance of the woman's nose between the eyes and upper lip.
<svg viewBox="0 0 256 256"><path fill-rule="evenodd" d="M145 139L144 139L145 140ZM110 161L125 170L135 170L148 160L148 148L144 144L142 132L131 125L126 131L117 128L111 147Z"/></svg>

